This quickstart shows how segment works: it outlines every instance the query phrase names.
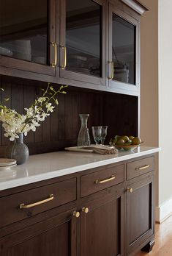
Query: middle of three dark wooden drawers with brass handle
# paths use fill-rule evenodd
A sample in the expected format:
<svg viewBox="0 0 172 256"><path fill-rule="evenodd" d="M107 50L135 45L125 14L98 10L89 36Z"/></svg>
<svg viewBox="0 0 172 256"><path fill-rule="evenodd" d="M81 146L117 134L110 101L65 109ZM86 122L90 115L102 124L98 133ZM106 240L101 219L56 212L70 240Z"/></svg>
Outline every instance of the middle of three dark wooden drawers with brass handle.
<svg viewBox="0 0 172 256"><path fill-rule="evenodd" d="M81 177L81 197L124 182L124 165L106 168Z"/></svg>

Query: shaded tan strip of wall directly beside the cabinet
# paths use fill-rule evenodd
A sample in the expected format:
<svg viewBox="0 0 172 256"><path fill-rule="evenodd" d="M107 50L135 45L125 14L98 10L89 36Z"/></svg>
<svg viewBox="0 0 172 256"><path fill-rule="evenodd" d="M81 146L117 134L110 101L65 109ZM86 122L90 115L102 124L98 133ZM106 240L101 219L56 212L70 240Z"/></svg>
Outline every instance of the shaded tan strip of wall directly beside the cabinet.
<svg viewBox="0 0 172 256"><path fill-rule="evenodd" d="M141 138L145 146L158 146L158 0L141 2L149 9L141 17ZM155 169L159 205L158 159Z"/></svg>

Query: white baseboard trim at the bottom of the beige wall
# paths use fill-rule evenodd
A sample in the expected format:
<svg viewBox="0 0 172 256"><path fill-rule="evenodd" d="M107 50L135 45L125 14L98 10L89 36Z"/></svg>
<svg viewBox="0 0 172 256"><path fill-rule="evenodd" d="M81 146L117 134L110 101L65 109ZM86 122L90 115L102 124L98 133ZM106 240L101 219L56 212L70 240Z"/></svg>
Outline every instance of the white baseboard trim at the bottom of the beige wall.
<svg viewBox="0 0 172 256"><path fill-rule="evenodd" d="M162 205L155 207L155 221L162 223L166 218L172 215L172 197L163 202Z"/></svg>

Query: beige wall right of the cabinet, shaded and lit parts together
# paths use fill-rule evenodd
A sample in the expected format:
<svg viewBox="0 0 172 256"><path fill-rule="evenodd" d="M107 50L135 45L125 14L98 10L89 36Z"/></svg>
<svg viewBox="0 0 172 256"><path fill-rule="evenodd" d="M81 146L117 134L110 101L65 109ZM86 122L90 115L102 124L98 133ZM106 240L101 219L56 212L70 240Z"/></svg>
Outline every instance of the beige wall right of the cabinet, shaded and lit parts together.
<svg viewBox="0 0 172 256"><path fill-rule="evenodd" d="M172 213L172 1L142 2L149 12L141 18L141 138L145 145L159 144L162 149L156 161L156 205L161 221Z"/></svg>

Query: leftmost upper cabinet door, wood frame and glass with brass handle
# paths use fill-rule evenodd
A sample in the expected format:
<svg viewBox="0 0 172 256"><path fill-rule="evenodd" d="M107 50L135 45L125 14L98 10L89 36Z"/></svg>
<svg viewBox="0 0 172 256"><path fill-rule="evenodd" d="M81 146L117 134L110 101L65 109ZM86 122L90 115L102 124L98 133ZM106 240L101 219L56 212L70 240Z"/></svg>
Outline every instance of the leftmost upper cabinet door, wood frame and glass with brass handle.
<svg viewBox="0 0 172 256"><path fill-rule="evenodd" d="M56 0L2 0L0 16L0 74L55 76Z"/></svg>

